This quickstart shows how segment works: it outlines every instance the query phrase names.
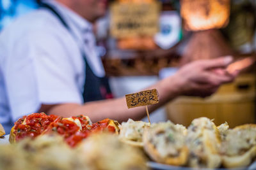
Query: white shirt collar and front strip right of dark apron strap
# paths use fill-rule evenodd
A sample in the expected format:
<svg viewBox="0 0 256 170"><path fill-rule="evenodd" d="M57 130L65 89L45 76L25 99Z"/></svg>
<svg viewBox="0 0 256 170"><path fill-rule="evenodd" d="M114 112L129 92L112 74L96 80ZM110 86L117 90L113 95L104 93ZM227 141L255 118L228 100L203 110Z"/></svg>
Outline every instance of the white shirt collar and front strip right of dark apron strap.
<svg viewBox="0 0 256 170"><path fill-rule="evenodd" d="M99 77L104 76L104 67L96 50L93 25L61 3L54 0L44 0L43 2L54 6L65 22L67 22L74 38L78 40L77 45L79 45L79 48L85 53L86 60L91 66L93 73Z"/></svg>

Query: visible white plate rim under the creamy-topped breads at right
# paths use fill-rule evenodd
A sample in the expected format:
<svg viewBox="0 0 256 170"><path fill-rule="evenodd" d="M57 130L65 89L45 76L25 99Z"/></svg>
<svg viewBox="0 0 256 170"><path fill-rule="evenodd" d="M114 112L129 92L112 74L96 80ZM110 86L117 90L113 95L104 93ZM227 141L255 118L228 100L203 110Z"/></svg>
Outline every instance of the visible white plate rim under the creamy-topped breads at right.
<svg viewBox="0 0 256 170"><path fill-rule="evenodd" d="M169 166L169 165L165 165L165 164L159 164L157 162L148 162L148 167L150 167L153 170L195 170L195 168L191 168L191 167L180 167L180 166ZM232 169L228 169L228 170L253 170L256 169L256 161L253 162L253 164L251 164L250 167L243 167L243 168L232 168ZM211 168L200 168L198 170L214 170ZM227 170L225 168L219 168L219 169L215 169L215 170Z"/></svg>

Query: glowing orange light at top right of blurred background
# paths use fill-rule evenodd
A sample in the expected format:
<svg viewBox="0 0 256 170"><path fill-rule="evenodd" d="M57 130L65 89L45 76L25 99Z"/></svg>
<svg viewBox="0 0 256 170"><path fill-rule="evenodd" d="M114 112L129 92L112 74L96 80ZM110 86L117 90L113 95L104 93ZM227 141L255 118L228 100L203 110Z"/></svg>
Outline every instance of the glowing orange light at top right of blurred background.
<svg viewBox="0 0 256 170"><path fill-rule="evenodd" d="M182 0L180 14L185 29L218 29L228 23L230 0Z"/></svg>

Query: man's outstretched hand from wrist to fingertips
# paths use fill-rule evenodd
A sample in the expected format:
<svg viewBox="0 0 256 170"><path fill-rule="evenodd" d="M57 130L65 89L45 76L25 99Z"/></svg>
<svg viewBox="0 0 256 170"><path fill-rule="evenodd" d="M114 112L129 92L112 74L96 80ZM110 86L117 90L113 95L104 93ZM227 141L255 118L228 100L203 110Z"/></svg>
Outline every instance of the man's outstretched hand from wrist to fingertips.
<svg viewBox="0 0 256 170"><path fill-rule="evenodd" d="M232 57L198 60L181 67L175 76L180 94L184 96L210 96L223 83L233 81L236 74L226 71Z"/></svg>

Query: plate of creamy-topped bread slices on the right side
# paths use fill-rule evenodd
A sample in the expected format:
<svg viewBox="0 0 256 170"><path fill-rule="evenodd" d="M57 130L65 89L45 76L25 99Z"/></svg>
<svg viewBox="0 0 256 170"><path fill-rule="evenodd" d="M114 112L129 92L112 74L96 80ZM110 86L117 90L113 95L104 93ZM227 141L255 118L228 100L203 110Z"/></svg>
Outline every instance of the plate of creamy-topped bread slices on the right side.
<svg viewBox="0 0 256 170"><path fill-rule="evenodd" d="M134 128L136 124L139 129ZM140 131L140 138L132 138L132 131ZM252 164L256 157L255 124L230 129L227 122L216 126L201 117L186 129L170 121L141 126L140 121L130 120L121 125L120 134L121 141L142 145L152 169L256 169Z"/></svg>

